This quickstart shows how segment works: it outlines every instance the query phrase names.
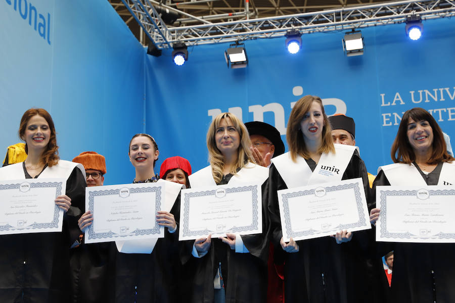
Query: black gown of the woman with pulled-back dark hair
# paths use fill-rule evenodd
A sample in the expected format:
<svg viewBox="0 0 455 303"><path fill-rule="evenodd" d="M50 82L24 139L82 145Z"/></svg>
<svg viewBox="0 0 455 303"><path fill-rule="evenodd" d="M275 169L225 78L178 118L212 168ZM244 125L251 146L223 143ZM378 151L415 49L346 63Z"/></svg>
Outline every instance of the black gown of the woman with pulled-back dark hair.
<svg viewBox="0 0 455 303"><path fill-rule="evenodd" d="M180 194L170 213L179 222ZM158 239L151 254L123 254L118 252L115 242L112 242L110 256L113 266L110 302L178 301L178 226L174 233L165 228L164 238Z"/></svg>

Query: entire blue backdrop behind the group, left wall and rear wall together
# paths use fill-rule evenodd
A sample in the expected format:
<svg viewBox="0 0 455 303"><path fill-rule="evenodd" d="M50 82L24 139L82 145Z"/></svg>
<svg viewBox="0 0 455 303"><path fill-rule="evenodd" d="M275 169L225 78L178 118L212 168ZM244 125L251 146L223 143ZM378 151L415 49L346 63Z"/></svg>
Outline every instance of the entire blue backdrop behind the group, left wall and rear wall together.
<svg viewBox="0 0 455 303"><path fill-rule="evenodd" d="M362 29L365 54L350 58L343 32L304 35L296 55L287 53L284 38L245 41L249 66L238 70L226 68L228 44L190 47L181 67L170 50L148 56L107 1L0 0L0 25L0 156L19 142L23 112L42 107L56 123L61 158L85 150L105 155L106 184L131 182L127 149L134 133L156 138L156 171L176 155L196 171L207 165L213 115L231 111L284 134L293 103L306 94L321 96L329 115L355 119L360 155L372 173L391 162L407 109L431 110L455 135L450 19L425 21L418 41L405 37L403 24Z"/></svg>

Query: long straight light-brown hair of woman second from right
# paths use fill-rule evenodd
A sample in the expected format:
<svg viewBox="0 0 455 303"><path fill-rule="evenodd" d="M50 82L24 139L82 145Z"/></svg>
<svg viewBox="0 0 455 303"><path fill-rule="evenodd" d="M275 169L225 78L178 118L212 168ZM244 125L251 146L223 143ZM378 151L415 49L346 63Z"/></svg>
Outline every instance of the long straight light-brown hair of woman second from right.
<svg viewBox="0 0 455 303"><path fill-rule="evenodd" d="M301 97L289 116L288 127L286 130L286 140L288 141L289 153L291 154L292 161L296 162L297 156L301 156L305 159L309 159L310 155L305 145L302 131L300 129L300 122L309 112L313 102L319 103L324 117L324 126L322 131L322 144L317 149L318 153L335 153L335 147L333 146L332 139L332 128L330 126L329 119L327 118L322 100L320 97L306 95Z"/></svg>

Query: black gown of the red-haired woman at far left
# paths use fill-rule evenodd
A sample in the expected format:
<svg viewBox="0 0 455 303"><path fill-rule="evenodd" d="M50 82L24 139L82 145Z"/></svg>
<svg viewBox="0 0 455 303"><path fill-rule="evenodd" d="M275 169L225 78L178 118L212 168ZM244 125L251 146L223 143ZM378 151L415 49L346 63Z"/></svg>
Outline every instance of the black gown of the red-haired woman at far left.
<svg viewBox="0 0 455 303"><path fill-rule="evenodd" d="M31 178L25 167L24 175ZM69 250L80 233L77 219L85 203L85 177L77 167L65 193L71 207L62 232L0 236L0 302L70 302Z"/></svg>

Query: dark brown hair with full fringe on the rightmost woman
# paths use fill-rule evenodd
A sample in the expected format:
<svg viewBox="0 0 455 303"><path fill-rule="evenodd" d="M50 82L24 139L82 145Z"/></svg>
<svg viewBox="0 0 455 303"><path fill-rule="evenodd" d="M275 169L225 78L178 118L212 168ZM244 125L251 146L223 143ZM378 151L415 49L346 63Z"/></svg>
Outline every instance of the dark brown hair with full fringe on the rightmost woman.
<svg viewBox="0 0 455 303"><path fill-rule="evenodd" d="M427 164L437 164L439 162L452 162L455 160L447 153L447 145L445 144L444 135L433 116L422 108L413 108L407 110L401 118L398 132L390 149L390 156L394 163L411 164L416 160L414 149L407 138L407 125L409 119L416 122L427 121L433 130L433 151Z"/></svg>

